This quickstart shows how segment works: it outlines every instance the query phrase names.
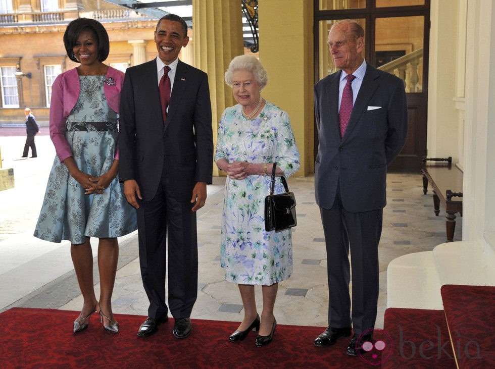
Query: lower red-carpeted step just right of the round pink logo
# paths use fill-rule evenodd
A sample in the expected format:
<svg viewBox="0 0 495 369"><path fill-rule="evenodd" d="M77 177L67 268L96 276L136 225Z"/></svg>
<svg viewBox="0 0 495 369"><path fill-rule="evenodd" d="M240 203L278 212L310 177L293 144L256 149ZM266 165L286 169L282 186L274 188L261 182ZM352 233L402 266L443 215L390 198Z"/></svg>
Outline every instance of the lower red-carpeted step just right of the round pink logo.
<svg viewBox="0 0 495 369"><path fill-rule="evenodd" d="M393 353L383 368L455 368L443 310L388 308L383 330Z"/></svg>

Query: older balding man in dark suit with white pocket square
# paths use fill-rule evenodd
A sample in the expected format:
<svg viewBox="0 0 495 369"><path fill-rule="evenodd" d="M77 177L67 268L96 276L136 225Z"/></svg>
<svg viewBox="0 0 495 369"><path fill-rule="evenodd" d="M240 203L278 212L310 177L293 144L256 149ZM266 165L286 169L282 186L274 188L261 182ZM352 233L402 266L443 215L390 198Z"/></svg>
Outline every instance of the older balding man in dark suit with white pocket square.
<svg viewBox="0 0 495 369"><path fill-rule="evenodd" d="M387 165L406 142L407 101L401 79L363 59L364 30L358 22L336 22L328 45L340 71L314 87L319 137L315 196L325 234L329 289L328 328L315 345L349 337L352 324L354 336L346 353L356 356L361 343L373 335Z"/></svg>

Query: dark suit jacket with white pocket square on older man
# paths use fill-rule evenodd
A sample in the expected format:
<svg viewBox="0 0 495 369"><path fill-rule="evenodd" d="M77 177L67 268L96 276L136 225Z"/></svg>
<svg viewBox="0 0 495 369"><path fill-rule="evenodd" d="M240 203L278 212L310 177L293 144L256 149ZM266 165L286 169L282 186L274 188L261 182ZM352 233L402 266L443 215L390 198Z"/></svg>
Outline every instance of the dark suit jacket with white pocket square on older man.
<svg viewBox="0 0 495 369"><path fill-rule="evenodd" d="M343 207L351 213L386 205L387 165L399 154L408 131L404 81L366 65L349 125L339 132L340 71L315 84L319 146L315 162L315 195L319 206L333 205L340 184ZM369 110L369 107L379 107Z"/></svg>

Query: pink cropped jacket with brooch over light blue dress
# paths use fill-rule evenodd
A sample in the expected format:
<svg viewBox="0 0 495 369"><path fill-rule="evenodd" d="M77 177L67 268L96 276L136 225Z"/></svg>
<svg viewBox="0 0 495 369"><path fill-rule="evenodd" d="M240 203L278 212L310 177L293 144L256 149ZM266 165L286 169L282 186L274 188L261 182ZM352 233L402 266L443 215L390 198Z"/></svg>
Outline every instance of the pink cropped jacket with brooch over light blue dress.
<svg viewBox="0 0 495 369"><path fill-rule="evenodd" d="M109 67L107 77L112 77L115 81L115 86L107 83L104 84L105 97L107 102L114 112L119 114L120 91L124 83L124 73ZM52 85L52 101L50 103L50 137L55 146L55 151L60 162L63 162L69 156L72 156L72 151L69 143L65 139L65 123L72 108L74 108L81 84L79 83L79 74L76 68L59 74ZM119 152L116 150L115 160L119 159Z"/></svg>

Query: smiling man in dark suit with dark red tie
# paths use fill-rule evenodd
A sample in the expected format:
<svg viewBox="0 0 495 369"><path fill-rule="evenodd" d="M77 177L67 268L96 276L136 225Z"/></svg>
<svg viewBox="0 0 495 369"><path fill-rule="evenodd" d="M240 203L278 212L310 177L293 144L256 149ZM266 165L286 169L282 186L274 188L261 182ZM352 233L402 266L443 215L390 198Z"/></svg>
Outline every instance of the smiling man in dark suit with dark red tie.
<svg viewBox="0 0 495 369"><path fill-rule="evenodd" d="M150 300L138 336L175 319L187 337L197 296L196 210L212 182L213 134L208 76L177 59L189 41L184 20L162 17L155 31L158 57L128 68L120 105L120 180L137 210L139 262ZM168 232L168 236L167 236ZM168 239L168 302L165 271Z"/></svg>

